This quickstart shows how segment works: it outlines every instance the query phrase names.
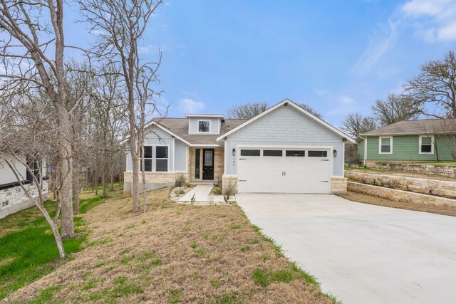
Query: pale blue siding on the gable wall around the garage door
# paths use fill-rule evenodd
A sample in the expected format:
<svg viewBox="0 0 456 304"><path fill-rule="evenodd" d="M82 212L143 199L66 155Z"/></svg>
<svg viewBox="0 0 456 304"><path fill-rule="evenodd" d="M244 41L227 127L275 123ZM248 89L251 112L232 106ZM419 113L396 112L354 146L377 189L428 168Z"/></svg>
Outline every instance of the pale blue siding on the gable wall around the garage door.
<svg viewBox="0 0 456 304"><path fill-rule="evenodd" d="M232 154L237 145L330 146L329 157L333 157L332 150L338 152L332 175L343 176L342 137L291 106L281 106L227 137L225 174L237 174L238 155Z"/></svg>

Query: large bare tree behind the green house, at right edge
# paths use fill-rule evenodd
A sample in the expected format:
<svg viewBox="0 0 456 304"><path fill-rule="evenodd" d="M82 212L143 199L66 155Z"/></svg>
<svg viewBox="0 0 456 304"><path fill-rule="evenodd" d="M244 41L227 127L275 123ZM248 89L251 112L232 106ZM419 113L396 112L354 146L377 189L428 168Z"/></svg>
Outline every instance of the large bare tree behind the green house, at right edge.
<svg viewBox="0 0 456 304"><path fill-rule="evenodd" d="M408 81L404 89L415 108L423 114L456 118L455 52L449 51L443 60L425 63L420 75Z"/></svg>

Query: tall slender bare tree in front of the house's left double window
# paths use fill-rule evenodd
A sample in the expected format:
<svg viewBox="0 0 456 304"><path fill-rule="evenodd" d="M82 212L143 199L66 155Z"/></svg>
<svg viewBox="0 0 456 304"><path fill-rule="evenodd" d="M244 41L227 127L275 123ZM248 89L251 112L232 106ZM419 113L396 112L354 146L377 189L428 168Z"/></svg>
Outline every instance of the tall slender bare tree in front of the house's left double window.
<svg viewBox="0 0 456 304"><path fill-rule="evenodd" d="M92 26L91 30L98 31L98 41L92 53L109 58L120 66L128 100L130 153L133 160L133 212L137 213L140 209L138 173L141 140L137 140L135 131L138 130L138 125L144 126L143 116L140 115L139 123L137 119L137 113L141 112L138 109L141 100L138 99L142 95L138 92L138 83L145 83L145 80L157 81L157 69L161 61L161 53L157 63L140 61L138 43L144 35L150 16L162 4L162 0L78 0L78 4L84 18Z"/></svg>

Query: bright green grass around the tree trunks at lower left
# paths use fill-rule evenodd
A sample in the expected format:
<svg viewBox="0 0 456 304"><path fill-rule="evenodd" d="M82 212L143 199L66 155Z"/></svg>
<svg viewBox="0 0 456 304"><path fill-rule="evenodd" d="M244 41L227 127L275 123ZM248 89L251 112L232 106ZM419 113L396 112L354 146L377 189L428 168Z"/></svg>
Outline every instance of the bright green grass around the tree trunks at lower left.
<svg viewBox="0 0 456 304"><path fill-rule="evenodd" d="M105 200L100 196L84 194L81 198L81 214ZM45 206L53 218L56 202L50 199ZM67 254L80 251L87 236L86 222L82 216L75 216L74 224L76 234L82 236L63 241ZM58 261L51 228L36 206L0 219L0 300L51 273L68 259L71 259L71 255Z"/></svg>

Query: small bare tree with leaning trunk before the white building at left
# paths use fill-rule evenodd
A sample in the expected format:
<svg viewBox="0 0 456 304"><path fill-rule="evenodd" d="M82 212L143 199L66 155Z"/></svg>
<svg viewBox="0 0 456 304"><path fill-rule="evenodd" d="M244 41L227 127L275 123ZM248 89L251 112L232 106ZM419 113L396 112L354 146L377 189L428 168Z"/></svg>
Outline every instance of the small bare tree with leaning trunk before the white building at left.
<svg viewBox="0 0 456 304"><path fill-rule="evenodd" d="M59 136L56 132L58 125L54 123L53 112L47 108L47 99L29 95L24 90L15 92L19 94L14 97L4 94L0 101L0 119L4 122L0 127L0 162L13 172L26 197L34 201L51 226L59 255L63 258L65 251L57 226L61 200L58 199L56 204L54 219L43 205L46 200L43 161L55 157L53 143ZM61 187L58 184L58 188Z"/></svg>

